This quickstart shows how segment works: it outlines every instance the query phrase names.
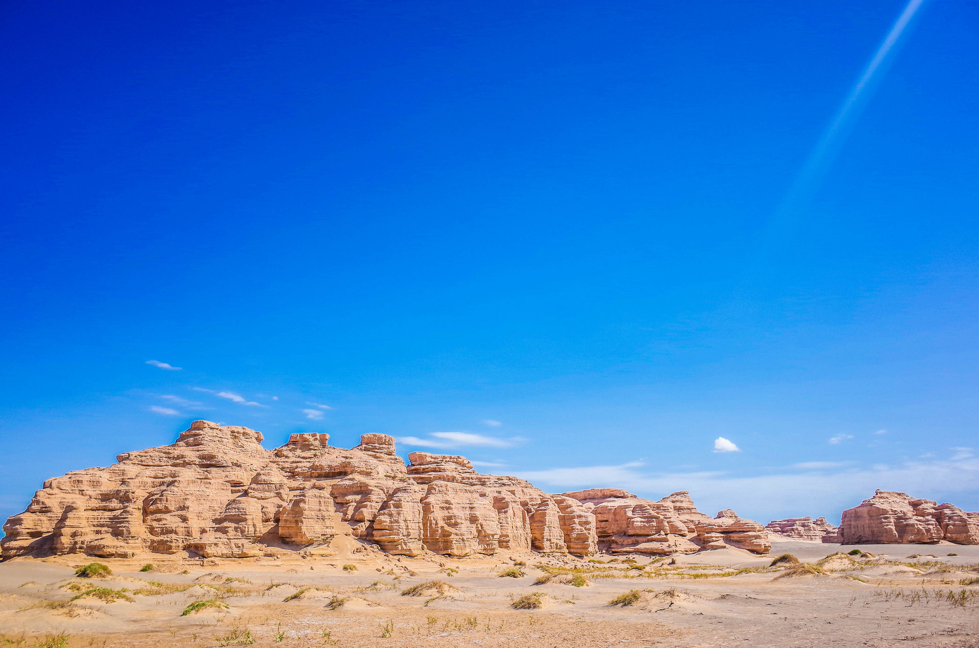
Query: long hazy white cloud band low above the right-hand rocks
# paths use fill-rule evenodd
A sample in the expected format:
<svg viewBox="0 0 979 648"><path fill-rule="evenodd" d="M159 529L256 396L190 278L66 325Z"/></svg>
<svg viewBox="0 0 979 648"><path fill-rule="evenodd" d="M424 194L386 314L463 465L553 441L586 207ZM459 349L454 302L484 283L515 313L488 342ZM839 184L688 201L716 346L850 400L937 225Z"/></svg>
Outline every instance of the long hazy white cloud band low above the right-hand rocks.
<svg viewBox="0 0 979 648"><path fill-rule="evenodd" d="M516 477L549 488L550 492L605 486L658 499L676 490L689 490L702 511L730 507L763 524L800 515L832 518L872 496L876 488L909 492L939 502L974 498L979 490L979 458L912 461L872 468L854 466L821 472L788 468L775 474L748 476L721 472L647 473L637 470L641 466L632 462L618 466L551 468L518 472Z"/></svg>

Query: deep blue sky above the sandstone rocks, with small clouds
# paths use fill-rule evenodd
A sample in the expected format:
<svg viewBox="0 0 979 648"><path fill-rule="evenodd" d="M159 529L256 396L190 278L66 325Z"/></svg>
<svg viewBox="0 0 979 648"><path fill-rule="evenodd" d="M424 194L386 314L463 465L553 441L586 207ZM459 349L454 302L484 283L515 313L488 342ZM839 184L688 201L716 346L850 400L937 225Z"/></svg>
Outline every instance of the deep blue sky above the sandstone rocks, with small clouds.
<svg viewBox="0 0 979 648"><path fill-rule="evenodd" d="M0 516L199 418L979 510L973 3L780 207L904 8L7 3Z"/></svg>

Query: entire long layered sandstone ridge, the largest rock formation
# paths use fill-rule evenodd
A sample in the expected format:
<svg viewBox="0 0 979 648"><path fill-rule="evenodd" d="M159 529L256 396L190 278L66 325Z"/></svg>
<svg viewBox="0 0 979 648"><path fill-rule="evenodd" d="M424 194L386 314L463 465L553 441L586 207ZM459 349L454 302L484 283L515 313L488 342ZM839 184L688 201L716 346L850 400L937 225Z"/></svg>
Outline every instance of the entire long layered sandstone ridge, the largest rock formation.
<svg viewBox="0 0 979 648"><path fill-rule="evenodd" d="M608 488L547 494L480 475L459 456L412 452L405 466L395 440L380 434L351 449L327 435L292 435L274 450L261 440L195 421L170 445L50 479L4 525L2 556L329 553L339 536L404 556L770 547L758 523L730 511L712 519L685 491L658 502Z"/></svg>

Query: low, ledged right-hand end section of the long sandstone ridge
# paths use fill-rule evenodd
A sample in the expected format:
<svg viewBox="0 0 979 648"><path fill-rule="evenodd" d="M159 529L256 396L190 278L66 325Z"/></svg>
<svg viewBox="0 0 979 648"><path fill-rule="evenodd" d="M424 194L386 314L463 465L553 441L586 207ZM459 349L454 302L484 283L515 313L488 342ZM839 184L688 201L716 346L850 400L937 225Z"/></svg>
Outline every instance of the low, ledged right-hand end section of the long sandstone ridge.
<svg viewBox="0 0 979 648"><path fill-rule="evenodd" d="M730 509L711 518L697 510L686 490L655 502L620 488L562 494L591 510L598 541L612 553L691 553L727 546L766 553L771 548L765 527Z"/></svg>

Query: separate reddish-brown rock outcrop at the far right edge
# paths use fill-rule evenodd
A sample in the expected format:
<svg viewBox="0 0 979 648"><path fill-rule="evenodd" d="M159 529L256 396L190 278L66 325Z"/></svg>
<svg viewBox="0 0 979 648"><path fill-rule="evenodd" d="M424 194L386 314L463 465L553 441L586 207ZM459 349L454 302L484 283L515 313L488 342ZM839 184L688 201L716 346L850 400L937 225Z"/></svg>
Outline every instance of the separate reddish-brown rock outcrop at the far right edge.
<svg viewBox="0 0 979 648"><path fill-rule="evenodd" d="M873 497L843 512L843 544L929 543L947 540L979 544L979 513L952 504L916 499L906 492L877 490Z"/></svg>

